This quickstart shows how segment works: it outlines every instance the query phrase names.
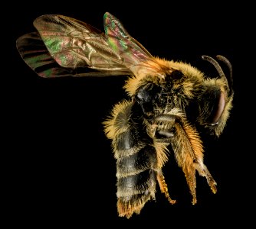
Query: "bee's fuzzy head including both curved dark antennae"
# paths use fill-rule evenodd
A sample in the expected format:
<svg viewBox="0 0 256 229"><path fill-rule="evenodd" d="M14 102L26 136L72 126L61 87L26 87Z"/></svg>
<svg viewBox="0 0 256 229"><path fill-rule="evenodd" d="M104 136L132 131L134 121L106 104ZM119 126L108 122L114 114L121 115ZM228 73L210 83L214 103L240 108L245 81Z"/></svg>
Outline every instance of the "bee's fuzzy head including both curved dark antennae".
<svg viewBox="0 0 256 229"><path fill-rule="evenodd" d="M231 63L224 56L217 56L218 60L223 61L229 68L228 78L222 70L222 67L210 56L202 56L215 66L218 71L218 77L214 79L205 78L202 90L197 99L199 105L198 117L196 121L210 134L219 136L222 134L231 109L233 98L232 89L232 67Z"/></svg>

